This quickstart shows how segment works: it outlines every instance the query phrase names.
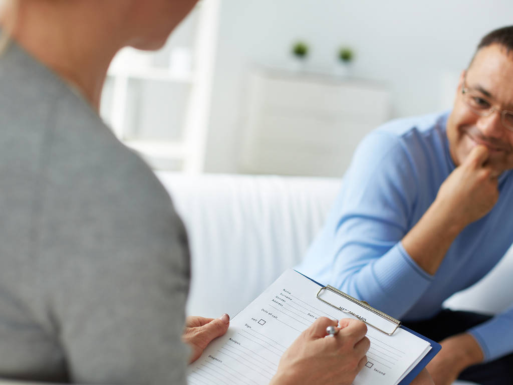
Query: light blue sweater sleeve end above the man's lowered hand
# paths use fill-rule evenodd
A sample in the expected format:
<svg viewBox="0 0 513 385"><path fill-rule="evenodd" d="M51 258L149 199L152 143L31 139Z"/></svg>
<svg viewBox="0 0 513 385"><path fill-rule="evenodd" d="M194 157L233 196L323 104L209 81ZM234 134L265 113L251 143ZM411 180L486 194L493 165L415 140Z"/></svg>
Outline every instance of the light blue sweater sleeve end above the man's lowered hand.
<svg viewBox="0 0 513 385"><path fill-rule="evenodd" d="M511 353L511 338L507 338L511 335L511 330L513 330L513 306L468 332L481 345L484 361L488 362Z"/></svg>

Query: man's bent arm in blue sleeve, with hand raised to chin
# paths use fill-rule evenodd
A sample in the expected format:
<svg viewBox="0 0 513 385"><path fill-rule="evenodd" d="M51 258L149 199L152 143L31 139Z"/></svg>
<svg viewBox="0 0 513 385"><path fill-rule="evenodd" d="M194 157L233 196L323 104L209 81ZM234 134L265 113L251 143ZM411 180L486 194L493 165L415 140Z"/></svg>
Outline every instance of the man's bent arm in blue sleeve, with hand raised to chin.
<svg viewBox="0 0 513 385"><path fill-rule="evenodd" d="M461 230L498 197L485 147L476 147L440 188L437 167L443 165L424 176L423 163L436 160L421 154L412 161L413 150L380 132L364 140L332 211L337 216L330 216L324 239L310 251L314 264L333 256L331 263L321 263L332 272L325 280L397 318L425 294ZM426 185L424 177L434 182Z"/></svg>

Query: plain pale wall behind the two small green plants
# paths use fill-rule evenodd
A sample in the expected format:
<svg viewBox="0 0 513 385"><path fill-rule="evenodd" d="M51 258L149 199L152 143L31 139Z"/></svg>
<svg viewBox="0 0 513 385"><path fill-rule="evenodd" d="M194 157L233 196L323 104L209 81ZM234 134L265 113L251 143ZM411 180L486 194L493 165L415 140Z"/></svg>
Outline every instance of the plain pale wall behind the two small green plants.
<svg viewBox="0 0 513 385"><path fill-rule="evenodd" d="M512 14L511 0L222 0L206 170L237 171L247 71L287 66L293 41L310 44L314 70L353 47L352 74L385 84L399 117L450 107L482 35Z"/></svg>

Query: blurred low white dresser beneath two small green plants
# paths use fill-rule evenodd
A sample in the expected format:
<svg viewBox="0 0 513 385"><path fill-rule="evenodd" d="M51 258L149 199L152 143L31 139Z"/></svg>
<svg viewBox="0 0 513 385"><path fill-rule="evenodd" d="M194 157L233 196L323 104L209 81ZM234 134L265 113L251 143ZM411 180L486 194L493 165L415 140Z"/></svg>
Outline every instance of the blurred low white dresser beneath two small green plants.
<svg viewBox="0 0 513 385"><path fill-rule="evenodd" d="M341 177L366 133L389 119L389 91L370 81L251 71L241 172Z"/></svg>

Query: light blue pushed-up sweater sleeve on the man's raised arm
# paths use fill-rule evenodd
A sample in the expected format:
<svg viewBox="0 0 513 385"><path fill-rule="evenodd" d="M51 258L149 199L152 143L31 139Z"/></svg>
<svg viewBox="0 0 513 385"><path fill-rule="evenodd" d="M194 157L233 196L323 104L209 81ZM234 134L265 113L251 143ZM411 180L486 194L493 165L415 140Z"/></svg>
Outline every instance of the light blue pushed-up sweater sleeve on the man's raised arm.
<svg viewBox="0 0 513 385"><path fill-rule="evenodd" d="M332 284L397 318L417 302L432 279L401 244L415 225L410 218L418 189L401 138L374 131L355 152L338 197L338 218L331 226Z"/></svg>

